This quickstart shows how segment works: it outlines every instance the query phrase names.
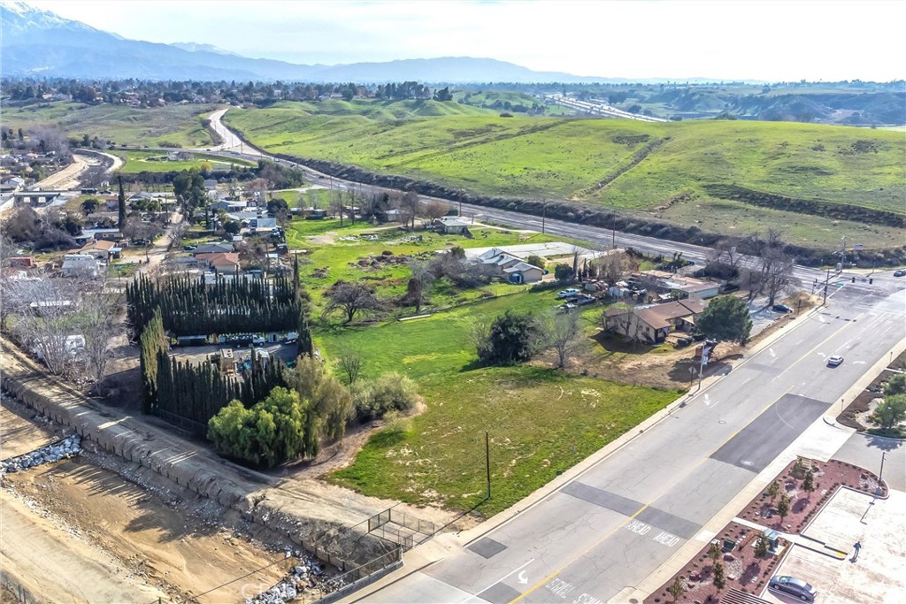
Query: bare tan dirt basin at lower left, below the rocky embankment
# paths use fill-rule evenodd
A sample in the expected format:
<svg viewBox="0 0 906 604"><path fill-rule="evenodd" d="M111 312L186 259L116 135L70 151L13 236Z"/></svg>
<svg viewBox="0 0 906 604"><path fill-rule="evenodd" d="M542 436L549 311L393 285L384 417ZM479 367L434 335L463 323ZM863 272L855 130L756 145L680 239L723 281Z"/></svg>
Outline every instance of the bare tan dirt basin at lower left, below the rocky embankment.
<svg viewBox="0 0 906 604"><path fill-rule="evenodd" d="M23 416L22 407L4 401L4 456L6 446L22 453L51 439L48 430L29 430ZM119 467L133 473L130 482L104 467L116 465L127 464L87 453L5 476L0 551L14 584L43 601L150 602L188 599L252 573L199 598L241 601L275 583L292 561L251 538L260 527L159 475Z"/></svg>

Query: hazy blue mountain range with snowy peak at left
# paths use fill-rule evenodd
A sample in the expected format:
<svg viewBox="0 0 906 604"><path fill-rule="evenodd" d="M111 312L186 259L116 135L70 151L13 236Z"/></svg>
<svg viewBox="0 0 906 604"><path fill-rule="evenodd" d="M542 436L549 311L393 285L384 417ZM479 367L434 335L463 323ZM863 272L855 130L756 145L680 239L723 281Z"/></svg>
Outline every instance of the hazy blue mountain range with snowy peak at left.
<svg viewBox="0 0 906 604"><path fill-rule="evenodd" d="M149 80L593 82L562 72L533 72L519 65L471 57L300 65L249 59L211 44L127 40L23 2L0 5L3 75Z"/></svg>

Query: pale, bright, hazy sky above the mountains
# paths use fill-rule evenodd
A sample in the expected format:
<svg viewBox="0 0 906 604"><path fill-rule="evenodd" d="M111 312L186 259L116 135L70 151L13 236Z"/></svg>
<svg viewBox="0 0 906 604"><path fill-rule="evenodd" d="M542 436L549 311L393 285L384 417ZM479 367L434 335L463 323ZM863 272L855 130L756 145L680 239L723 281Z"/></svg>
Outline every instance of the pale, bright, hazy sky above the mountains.
<svg viewBox="0 0 906 604"><path fill-rule="evenodd" d="M149 42L305 64L486 57L608 78L906 78L903 0L26 0Z"/></svg>

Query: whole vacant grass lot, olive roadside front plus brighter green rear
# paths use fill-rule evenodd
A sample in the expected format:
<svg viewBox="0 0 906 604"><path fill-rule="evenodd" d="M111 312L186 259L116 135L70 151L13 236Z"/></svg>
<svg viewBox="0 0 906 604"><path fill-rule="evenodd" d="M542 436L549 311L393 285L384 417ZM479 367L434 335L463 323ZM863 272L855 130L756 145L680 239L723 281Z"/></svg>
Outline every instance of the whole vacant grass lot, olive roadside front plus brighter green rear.
<svg viewBox="0 0 906 604"><path fill-rule="evenodd" d="M556 303L554 292L521 292L425 319L319 331L315 341L325 357L357 350L365 377L400 371L418 382L427 405L404 433L373 436L331 480L365 494L465 510L483 498L479 462L488 430L494 498L479 511L490 515L679 396L553 369L473 366L475 325L506 310L544 315Z"/></svg>

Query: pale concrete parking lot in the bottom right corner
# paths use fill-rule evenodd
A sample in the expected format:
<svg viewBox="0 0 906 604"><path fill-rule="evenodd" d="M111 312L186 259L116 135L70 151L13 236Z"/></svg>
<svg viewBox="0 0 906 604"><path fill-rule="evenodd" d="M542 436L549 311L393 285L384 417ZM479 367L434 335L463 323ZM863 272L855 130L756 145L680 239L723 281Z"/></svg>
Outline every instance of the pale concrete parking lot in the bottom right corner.
<svg viewBox="0 0 906 604"><path fill-rule="evenodd" d="M889 499L841 489L824 506L805 536L847 551L845 560L795 546L776 570L811 583L816 604L898 602L906 593L906 493L892 491ZM853 560L853 544L862 543ZM819 546L820 549L820 546ZM771 602L799 601L765 590Z"/></svg>

